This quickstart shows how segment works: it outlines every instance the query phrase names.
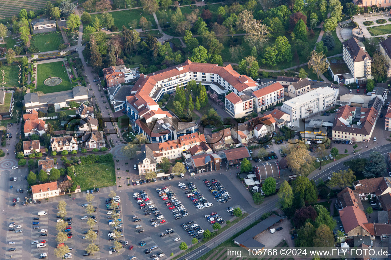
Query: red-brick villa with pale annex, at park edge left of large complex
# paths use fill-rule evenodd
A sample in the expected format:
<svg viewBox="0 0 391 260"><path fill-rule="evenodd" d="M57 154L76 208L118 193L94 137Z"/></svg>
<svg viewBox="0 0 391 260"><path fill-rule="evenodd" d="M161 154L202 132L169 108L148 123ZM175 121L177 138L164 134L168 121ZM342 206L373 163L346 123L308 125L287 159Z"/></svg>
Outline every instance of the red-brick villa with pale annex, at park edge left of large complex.
<svg viewBox="0 0 391 260"><path fill-rule="evenodd" d="M125 65L120 65L104 68L103 76L106 80L106 87L113 87L118 84L135 81L138 78L138 73L127 68Z"/></svg>

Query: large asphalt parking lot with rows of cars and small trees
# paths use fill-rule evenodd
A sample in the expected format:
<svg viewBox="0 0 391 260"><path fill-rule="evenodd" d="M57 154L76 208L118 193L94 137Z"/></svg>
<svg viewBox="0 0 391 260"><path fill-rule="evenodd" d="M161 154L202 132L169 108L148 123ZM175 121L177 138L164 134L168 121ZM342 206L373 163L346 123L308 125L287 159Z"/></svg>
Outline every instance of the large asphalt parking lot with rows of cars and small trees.
<svg viewBox="0 0 391 260"><path fill-rule="evenodd" d="M129 250L129 246L126 246L124 249L121 249L120 253L126 257L130 257L135 255L139 259L150 259L149 256L153 254L157 254L159 252L163 252L165 256L159 257L159 259L165 259L169 257L170 253L176 253L180 251L179 244L181 242L186 242L188 246L191 245L191 237L188 234L188 231L184 230L181 224L188 223L189 221L194 221L197 223L203 230L209 229L212 230L212 224L210 224L204 215L211 215L212 212L217 212L220 214L221 218L224 221L231 219L231 213L226 211L227 207L240 207L243 211L248 211L249 213L254 210L249 203L244 199L241 193L237 190L237 188L232 184L231 180L225 175L213 175L216 179L219 180L221 185L226 188L226 191L232 197L228 202L222 204L221 202L217 202L215 197L210 193L208 187L204 184L203 180L191 178L189 180L175 177L170 181L160 181L152 182L149 184L136 185L131 186L129 189L124 191L117 191L117 195L120 196L120 210L121 212L121 220L124 223L123 231L124 237L120 239L123 241L129 241L129 246L133 246L132 250ZM24 180L23 180L24 181ZM213 206L206 207L203 209L197 209L193 202L187 198L187 194L185 194L188 190L183 190L178 187L179 182L187 184L187 182L193 182L197 187L197 190L200 191L204 198L208 200L208 202L213 203ZM169 209L169 206L166 205L165 201L163 201L158 193L156 192L156 188L163 188L167 186L168 189L174 192L176 199L183 204L183 207L188 211L188 216L182 217L181 219L175 220L174 214L172 213L173 209ZM242 188L242 187L240 187ZM112 189L112 188L111 188ZM158 210L160 210L163 215L163 219L165 223L159 223L160 225L154 228L151 225L150 220L152 218L156 218L154 214L149 216L145 216L144 210L148 209L140 209L140 206L133 198L134 192L140 192L141 190L145 190L147 195L149 196L149 202L152 202L149 205L154 205ZM94 212L94 215L97 217L97 224L93 227L93 229L99 230L97 240L94 241L96 244L99 244L100 251L96 252L95 255L91 256L83 256L84 249L89 244L90 241L83 239L84 231L88 230L86 226L86 220L82 220L83 216L87 216L85 213L85 208L82 207L84 203L86 203L84 196L80 198L76 198L75 200L71 200L68 197L62 197L63 200L67 203L67 215L66 218L72 218L72 238L69 238L68 241L65 242L67 246L73 248L71 252L73 258L78 259L88 259L88 258L104 258L110 256L109 247L113 245L113 241L108 240L108 233L113 228L108 225L108 216L106 209L106 198L108 198L108 192L100 192L94 193L95 198L92 202L94 206L97 207L97 211ZM15 195L16 196L16 195ZM199 198L199 197L197 197ZM22 199L22 198L21 198ZM147 201L148 202L148 201ZM17 203L18 204L18 203ZM21 203L19 203L21 204ZM11 208L12 200L11 200ZM56 248L56 218L57 215L57 202L46 202L43 201L42 204L39 203L30 203L30 207L26 206L18 206L13 212L9 212L7 214L7 223L3 224L3 232L6 232L6 241L4 241L3 250L7 251L9 248L16 248L15 251L9 252L5 254L8 259L12 256L12 259L22 260L22 259L38 259L42 253L48 253L47 259L55 259L57 258L54 255L54 249ZM177 207L176 207L177 209ZM48 212L47 216L38 216L38 211L46 211ZM133 216L138 216L140 218L140 222L133 222ZM38 225L32 225L33 218L39 217ZM13 220L12 220L13 219ZM160 220L159 220L160 221ZM22 233L16 233L15 231L9 232L8 226L10 222L15 222L16 225L22 225ZM225 223L221 223L224 225ZM141 225L144 229L144 232L138 233L135 226ZM194 225L194 224L192 224ZM39 229L33 229L33 226L39 226ZM191 225L190 225L191 226ZM167 233L166 230L172 228L174 233L170 233L160 237L161 233ZM31 244L34 240L41 241L39 230L47 229L47 236L43 237L43 239L47 240L47 246L45 248L37 248L35 244ZM199 237L201 237L200 234ZM179 241L174 241L174 239L180 238ZM201 240L201 239L200 239ZM15 244L8 245L8 242L14 241ZM145 246L140 246L139 242L145 241ZM144 250L146 248L151 248L152 246L158 246L152 250L151 254L145 255ZM29 250L22 250L23 248L29 248ZM113 254L117 254L113 252ZM125 258L126 258L125 257Z"/></svg>

